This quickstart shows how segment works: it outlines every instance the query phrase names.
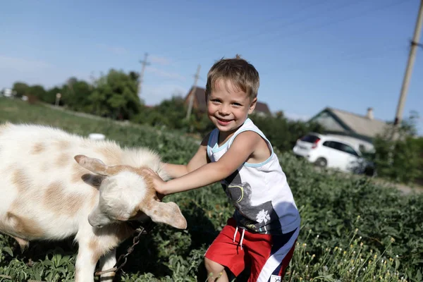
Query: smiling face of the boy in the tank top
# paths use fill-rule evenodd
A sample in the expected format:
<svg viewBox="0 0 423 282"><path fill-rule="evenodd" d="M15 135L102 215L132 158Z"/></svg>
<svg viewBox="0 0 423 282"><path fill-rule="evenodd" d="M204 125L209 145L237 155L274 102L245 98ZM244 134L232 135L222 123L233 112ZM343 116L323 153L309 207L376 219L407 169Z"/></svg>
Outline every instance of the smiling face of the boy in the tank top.
<svg viewBox="0 0 423 282"><path fill-rule="evenodd" d="M207 97L207 114L221 132L232 133L243 125L256 102L231 81L220 79Z"/></svg>

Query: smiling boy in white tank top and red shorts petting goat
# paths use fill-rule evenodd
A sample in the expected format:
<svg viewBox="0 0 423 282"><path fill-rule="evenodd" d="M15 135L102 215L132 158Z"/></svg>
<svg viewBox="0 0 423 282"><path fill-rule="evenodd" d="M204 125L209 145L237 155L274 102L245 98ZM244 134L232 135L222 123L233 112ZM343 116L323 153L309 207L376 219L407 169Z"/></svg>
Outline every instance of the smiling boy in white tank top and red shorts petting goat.
<svg viewBox="0 0 423 282"><path fill-rule="evenodd" d="M216 125L185 165L152 171L159 195L221 181L235 213L204 255L208 281L228 281L251 266L248 281L282 281L300 232L300 214L269 140L252 123L259 73L240 56L214 63L207 75L207 114Z"/></svg>

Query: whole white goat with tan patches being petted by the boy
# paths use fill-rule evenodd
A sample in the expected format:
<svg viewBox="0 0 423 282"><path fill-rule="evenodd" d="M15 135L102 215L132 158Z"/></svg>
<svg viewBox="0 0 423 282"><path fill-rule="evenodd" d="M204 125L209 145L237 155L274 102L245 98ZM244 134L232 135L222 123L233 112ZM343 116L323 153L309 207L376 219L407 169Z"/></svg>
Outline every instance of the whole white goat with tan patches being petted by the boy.
<svg viewBox="0 0 423 282"><path fill-rule="evenodd" d="M94 281L99 260L116 263L116 247L133 234L128 220L185 229L173 202L157 199L143 167L168 179L159 156L145 148L121 148L42 125L0 125L0 233L25 248L30 240L75 235L75 281ZM103 162L104 161L104 162ZM146 216L145 216L146 217ZM102 276L112 281L114 273Z"/></svg>

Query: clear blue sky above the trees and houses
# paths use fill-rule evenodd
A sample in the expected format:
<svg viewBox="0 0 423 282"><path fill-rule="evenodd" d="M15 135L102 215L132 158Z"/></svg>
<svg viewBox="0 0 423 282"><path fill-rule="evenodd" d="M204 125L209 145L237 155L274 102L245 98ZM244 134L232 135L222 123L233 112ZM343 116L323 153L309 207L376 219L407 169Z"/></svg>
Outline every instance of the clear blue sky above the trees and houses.
<svg viewBox="0 0 423 282"><path fill-rule="evenodd" d="M142 99L157 104L185 95L199 64L204 87L214 61L241 54L259 71L259 100L271 111L307 119L326 106L356 114L372 106L392 121L419 1L4 1L0 89L140 71L147 52ZM422 78L419 49L403 114L419 112L420 134Z"/></svg>

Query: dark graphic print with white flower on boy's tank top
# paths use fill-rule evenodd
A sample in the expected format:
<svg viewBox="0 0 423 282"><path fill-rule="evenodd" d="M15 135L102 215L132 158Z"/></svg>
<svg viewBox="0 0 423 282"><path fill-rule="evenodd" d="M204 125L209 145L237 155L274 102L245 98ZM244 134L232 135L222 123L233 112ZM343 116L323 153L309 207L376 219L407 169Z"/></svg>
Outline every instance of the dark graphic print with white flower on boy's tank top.
<svg viewBox="0 0 423 282"><path fill-rule="evenodd" d="M238 170L223 180L222 187L235 206L235 220L242 226L258 233L267 233L271 229L281 229L281 223L271 201L252 206L251 185L241 180Z"/></svg>

